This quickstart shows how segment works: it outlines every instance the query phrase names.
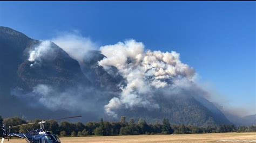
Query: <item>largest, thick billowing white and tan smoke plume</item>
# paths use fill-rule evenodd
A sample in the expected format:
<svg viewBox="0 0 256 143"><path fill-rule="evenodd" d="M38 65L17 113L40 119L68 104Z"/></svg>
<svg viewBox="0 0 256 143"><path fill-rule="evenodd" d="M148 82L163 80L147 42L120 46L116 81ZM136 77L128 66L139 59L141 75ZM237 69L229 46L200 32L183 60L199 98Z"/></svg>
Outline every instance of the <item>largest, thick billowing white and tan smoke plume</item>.
<svg viewBox="0 0 256 143"><path fill-rule="evenodd" d="M116 67L127 80L122 94L105 105L107 115L117 117L119 108L159 108L154 102L153 90L193 82L195 72L180 61L179 53L146 50L142 42L126 40L100 47L106 56L99 65L107 70ZM182 82L180 82L182 81Z"/></svg>

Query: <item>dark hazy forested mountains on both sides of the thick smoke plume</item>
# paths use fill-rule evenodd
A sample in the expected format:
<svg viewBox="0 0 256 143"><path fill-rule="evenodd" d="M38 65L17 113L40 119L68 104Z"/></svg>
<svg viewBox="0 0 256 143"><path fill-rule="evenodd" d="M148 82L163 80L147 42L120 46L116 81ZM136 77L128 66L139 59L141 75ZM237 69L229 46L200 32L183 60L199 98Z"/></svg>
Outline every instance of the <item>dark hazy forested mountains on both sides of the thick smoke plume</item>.
<svg viewBox="0 0 256 143"><path fill-rule="evenodd" d="M79 113L84 115L83 121L126 116L150 123L169 118L172 124L232 124L203 96L190 94L164 97L156 92L158 109L125 108L117 111L118 118L105 115L104 105L127 82L117 68L106 71L99 66L103 58L99 51L89 51L79 63L53 42L34 40L0 26L0 104L4 107L0 113L26 119Z"/></svg>

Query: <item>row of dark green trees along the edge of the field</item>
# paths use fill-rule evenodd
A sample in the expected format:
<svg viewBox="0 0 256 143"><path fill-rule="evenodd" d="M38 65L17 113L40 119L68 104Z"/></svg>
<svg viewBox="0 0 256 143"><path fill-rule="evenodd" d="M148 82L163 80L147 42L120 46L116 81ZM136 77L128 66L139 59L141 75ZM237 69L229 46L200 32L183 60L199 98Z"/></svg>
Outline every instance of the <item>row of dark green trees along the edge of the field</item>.
<svg viewBox="0 0 256 143"><path fill-rule="evenodd" d="M15 126L31 122L41 121L39 119L33 121L25 121L21 118L6 118L0 116L0 125ZM12 133L27 133L31 130L40 128L39 124L31 124L11 128ZM45 130L58 134L60 136L88 136L88 135L138 135L138 134L191 134L191 133L225 133L225 132L256 132L256 126L239 126L234 125L215 125L215 126L193 126L193 125L171 125L168 119L163 119L161 123L147 124L145 120L139 119L138 123L134 119L126 121L126 117L121 117L118 122L104 121L87 122L83 124L70 123L62 121L50 121L45 124ZM0 131L2 135L2 130Z"/></svg>

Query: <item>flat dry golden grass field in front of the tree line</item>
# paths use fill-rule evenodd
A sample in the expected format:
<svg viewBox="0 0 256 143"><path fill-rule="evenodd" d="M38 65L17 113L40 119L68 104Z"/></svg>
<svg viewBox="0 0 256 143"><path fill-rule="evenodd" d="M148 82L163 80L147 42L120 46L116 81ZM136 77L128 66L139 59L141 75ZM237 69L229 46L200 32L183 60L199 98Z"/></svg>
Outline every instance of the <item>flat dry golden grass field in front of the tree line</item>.
<svg viewBox="0 0 256 143"><path fill-rule="evenodd" d="M70 137L60 138L63 143L69 142L256 142L253 133L207 133L207 134L174 134L174 135L122 135L108 137ZM25 142L21 139L9 141Z"/></svg>

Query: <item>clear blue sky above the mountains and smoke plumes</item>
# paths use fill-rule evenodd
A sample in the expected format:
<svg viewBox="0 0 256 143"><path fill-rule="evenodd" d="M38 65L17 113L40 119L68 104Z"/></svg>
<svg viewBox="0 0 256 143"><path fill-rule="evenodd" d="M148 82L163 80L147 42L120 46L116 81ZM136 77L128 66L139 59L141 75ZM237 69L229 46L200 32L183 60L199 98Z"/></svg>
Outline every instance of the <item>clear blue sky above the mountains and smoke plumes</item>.
<svg viewBox="0 0 256 143"><path fill-rule="evenodd" d="M0 2L0 25L33 39L77 30L99 45L176 51L232 107L256 111L256 2ZM223 96L223 97L220 97Z"/></svg>

